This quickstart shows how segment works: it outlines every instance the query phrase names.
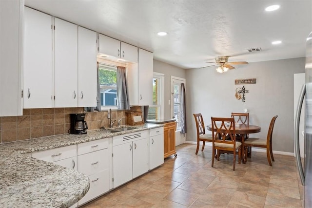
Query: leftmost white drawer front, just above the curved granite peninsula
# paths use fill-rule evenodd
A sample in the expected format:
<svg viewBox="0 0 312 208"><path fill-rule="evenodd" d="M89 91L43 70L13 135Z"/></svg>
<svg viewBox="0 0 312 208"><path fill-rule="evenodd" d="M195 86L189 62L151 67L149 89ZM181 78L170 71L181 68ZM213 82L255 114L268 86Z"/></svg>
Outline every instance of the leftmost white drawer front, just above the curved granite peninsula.
<svg viewBox="0 0 312 208"><path fill-rule="evenodd" d="M32 153L32 157L46 162L56 162L77 155L77 145L55 148Z"/></svg>

